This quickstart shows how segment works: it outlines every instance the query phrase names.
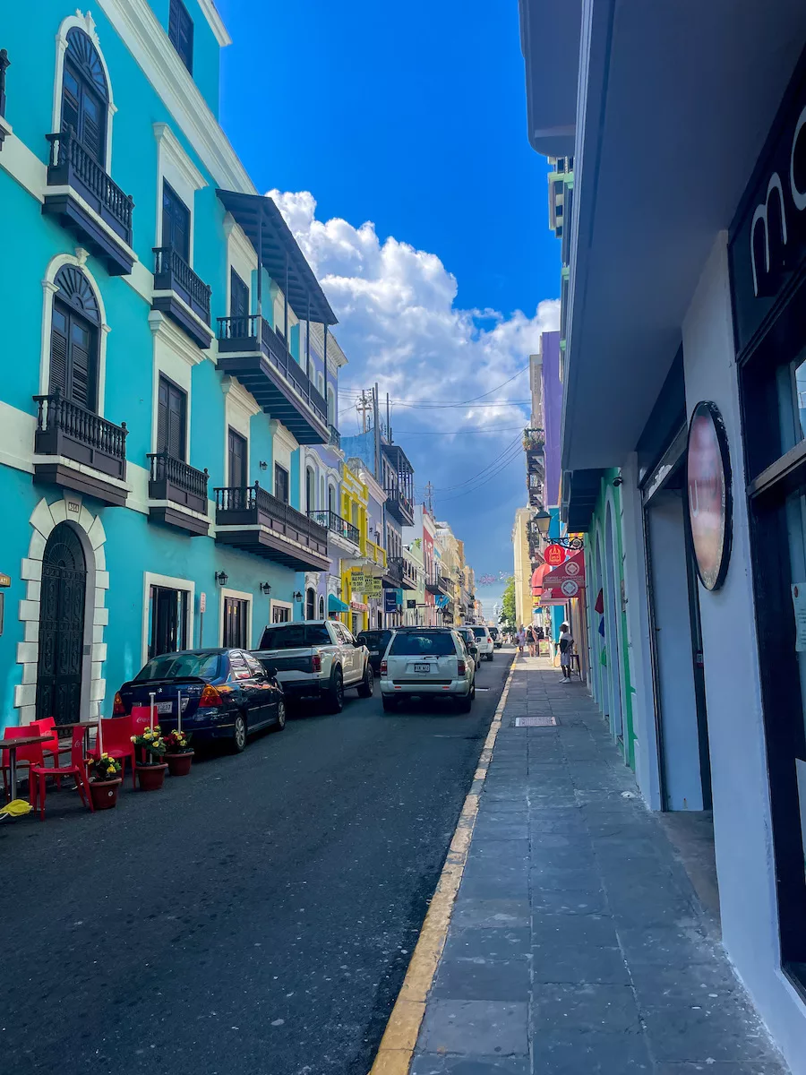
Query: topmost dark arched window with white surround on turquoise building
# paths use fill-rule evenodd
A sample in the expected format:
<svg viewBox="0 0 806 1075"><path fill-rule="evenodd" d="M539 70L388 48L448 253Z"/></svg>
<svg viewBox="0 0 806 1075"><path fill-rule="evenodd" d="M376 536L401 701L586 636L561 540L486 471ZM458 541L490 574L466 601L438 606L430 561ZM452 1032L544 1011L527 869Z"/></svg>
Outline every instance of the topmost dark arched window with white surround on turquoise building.
<svg viewBox="0 0 806 1075"><path fill-rule="evenodd" d="M106 164L110 89L98 49L86 33L68 31L61 83L61 129L72 130L95 160Z"/></svg>

